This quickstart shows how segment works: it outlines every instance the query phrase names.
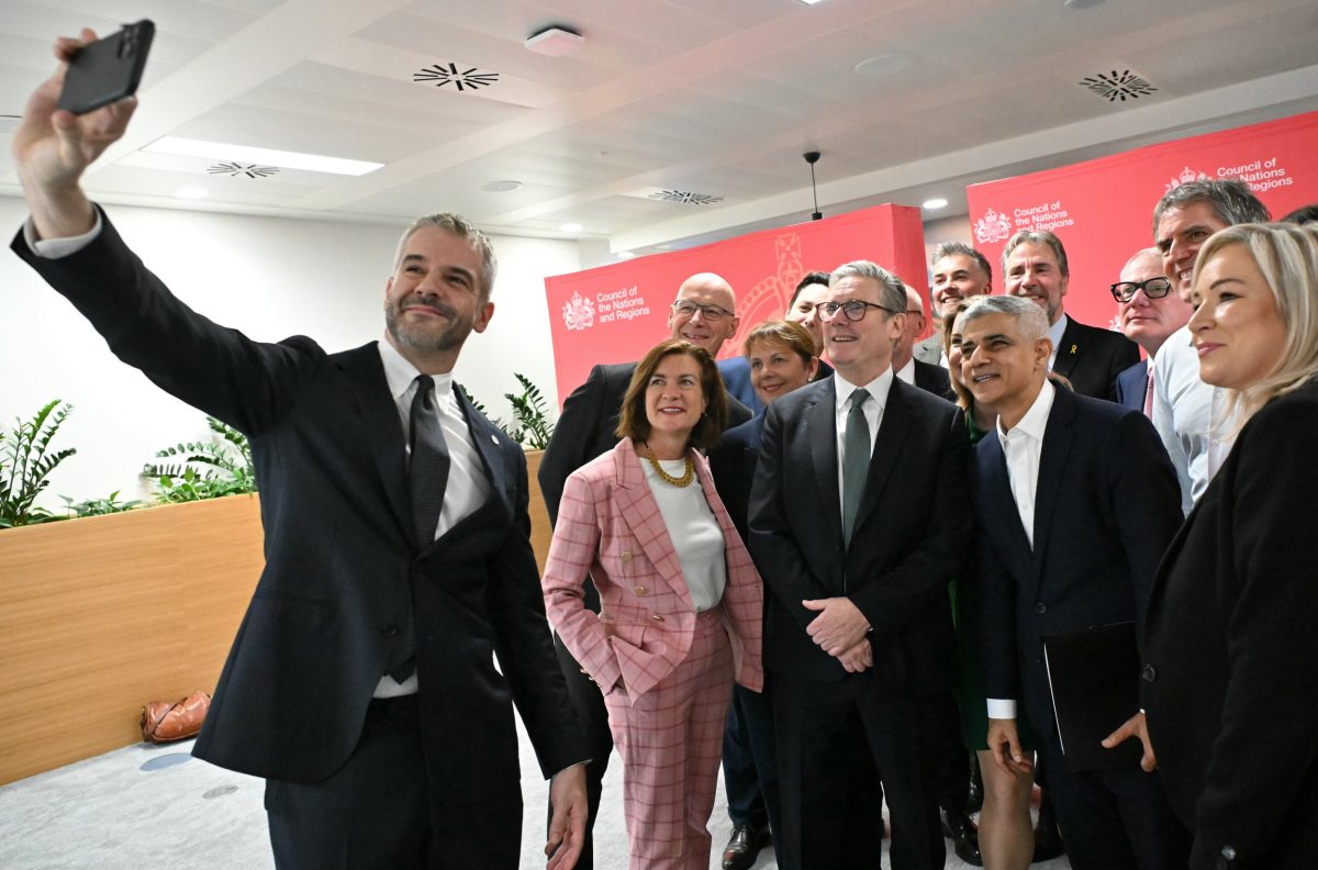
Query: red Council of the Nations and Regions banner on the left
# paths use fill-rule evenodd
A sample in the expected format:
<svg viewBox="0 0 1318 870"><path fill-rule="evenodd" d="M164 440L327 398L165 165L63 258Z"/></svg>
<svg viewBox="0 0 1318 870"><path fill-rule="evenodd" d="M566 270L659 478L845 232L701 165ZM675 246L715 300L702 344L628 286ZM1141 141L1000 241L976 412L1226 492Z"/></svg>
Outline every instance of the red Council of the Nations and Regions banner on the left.
<svg viewBox="0 0 1318 870"><path fill-rule="evenodd" d="M637 257L544 279L559 405L597 362L627 362L668 337L668 307L697 272L716 272L737 291L737 335L720 357L741 352L757 323L779 318L807 272L873 260L916 287L928 304L920 210L875 206L700 248Z"/></svg>

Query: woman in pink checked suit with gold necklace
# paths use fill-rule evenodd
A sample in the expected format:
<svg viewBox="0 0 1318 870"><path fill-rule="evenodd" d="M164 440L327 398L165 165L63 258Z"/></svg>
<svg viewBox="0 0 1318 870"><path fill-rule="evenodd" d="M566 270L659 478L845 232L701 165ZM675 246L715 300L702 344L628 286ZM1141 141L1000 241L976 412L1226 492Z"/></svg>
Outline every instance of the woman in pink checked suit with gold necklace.
<svg viewBox="0 0 1318 870"><path fill-rule="evenodd" d="M733 680L759 691L763 584L699 448L726 419L714 361L637 365L618 446L568 477L544 566L550 621L609 709L633 870L706 870ZM581 601L587 575L601 612Z"/></svg>

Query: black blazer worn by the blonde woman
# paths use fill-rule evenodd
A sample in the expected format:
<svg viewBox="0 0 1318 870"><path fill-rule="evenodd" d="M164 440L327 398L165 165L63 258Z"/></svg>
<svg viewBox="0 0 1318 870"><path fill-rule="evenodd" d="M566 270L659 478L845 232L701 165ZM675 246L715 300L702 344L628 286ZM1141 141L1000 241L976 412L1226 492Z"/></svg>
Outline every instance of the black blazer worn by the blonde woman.
<svg viewBox="0 0 1318 870"><path fill-rule="evenodd" d="M1190 866L1318 854L1318 382L1242 428L1159 568L1143 697Z"/></svg>

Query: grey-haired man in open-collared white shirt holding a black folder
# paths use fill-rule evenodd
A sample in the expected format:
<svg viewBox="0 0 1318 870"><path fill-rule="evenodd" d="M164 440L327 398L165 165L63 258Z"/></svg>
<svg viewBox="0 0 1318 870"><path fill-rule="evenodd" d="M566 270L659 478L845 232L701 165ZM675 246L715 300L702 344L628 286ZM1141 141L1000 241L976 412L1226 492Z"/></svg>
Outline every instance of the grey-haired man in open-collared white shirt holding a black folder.
<svg viewBox="0 0 1318 870"><path fill-rule="evenodd" d="M1028 776L1033 765L1016 730L1016 717L1028 717L1075 870L1180 870L1188 832L1135 753L1101 770L1068 766L1049 683L1061 678L1049 675L1043 641L1139 624L1180 525L1176 476L1141 414L1049 382L1052 341L1040 312L1019 298L985 297L958 320L970 390L998 411L971 463L988 749L1003 771ZM1120 504L1108 493L1122 493ZM1128 675L1132 684L1137 678ZM1139 736L1151 770L1144 714L1123 713L1130 720L1104 746Z"/></svg>

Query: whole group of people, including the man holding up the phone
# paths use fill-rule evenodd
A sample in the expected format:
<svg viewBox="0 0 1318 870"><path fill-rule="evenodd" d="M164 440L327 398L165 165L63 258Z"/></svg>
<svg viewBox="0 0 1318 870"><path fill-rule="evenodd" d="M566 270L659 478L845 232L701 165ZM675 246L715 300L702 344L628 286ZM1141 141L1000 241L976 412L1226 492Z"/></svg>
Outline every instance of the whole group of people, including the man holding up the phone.
<svg viewBox="0 0 1318 870"><path fill-rule="evenodd" d="M919 294L861 260L805 276L718 365L735 293L692 276L667 340L565 401L539 577L522 451L452 382L494 315L489 240L414 221L384 339L355 351L212 323L82 190L136 108L57 111L91 38L57 42L14 133L12 246L117 357L250 439L266 566L194 754L268 780L278 867L515 867L514 703L551 870L593 865L614 750L638 870L709 866L721 762L730 869L768 842L780 867L878 867L884 803L894 870L941 867L944 829L1021 869L1054 824L1077 870L1310 866L1313 210L1172 190L1111 286L1124 336L1066 315L1044 231L1007 243L1004 294L941 245L919 344ZM1048 649L1122 624L1137 692L1110 761L1079 763Z"/></svg>

